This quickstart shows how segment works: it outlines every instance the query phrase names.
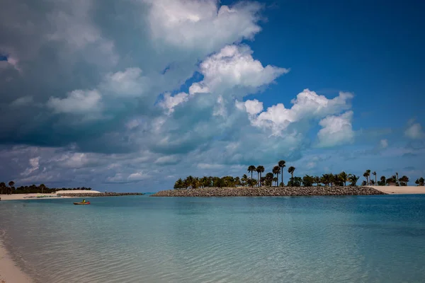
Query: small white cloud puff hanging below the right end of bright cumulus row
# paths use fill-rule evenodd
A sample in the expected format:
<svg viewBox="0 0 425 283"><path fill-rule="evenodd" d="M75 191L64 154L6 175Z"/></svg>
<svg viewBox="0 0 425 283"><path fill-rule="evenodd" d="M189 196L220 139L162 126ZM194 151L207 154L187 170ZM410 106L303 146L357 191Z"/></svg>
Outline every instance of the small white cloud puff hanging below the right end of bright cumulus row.
<svg viewBox="0 0 425 283"><path fill-rule="evenodd" d="M339 116L328 116L319 122L322 129L317 133L319 147L338 146L350 143L354 139L351 126L353 111L347 111Z"/></svg>

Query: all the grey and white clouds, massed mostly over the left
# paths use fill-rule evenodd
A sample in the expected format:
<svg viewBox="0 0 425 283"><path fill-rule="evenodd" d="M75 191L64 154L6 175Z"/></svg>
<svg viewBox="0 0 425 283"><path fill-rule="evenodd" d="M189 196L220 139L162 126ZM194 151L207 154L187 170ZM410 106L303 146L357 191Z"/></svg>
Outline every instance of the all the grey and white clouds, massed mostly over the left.
<svg viewBox="0 0 425 283"><path fill-rule="evenodd" d="M285 95L289 107L262 99L290 69L261 63L249 46L260 4L43 3L0 9L2 180L160 188L353 141L352 93L305 86ZM420 137L415 125L408 137Z"/></svg>

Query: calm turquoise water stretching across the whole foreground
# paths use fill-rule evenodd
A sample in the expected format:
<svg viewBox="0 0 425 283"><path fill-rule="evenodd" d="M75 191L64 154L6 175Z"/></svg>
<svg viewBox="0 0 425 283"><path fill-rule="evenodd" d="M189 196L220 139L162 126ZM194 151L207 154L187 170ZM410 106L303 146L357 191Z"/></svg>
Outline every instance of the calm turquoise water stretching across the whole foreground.
<svg viewBox="0 0 425 283"><path fill-rule="evenodd" d="M0 202L36 282L424 282L425 195Z"/></svg>

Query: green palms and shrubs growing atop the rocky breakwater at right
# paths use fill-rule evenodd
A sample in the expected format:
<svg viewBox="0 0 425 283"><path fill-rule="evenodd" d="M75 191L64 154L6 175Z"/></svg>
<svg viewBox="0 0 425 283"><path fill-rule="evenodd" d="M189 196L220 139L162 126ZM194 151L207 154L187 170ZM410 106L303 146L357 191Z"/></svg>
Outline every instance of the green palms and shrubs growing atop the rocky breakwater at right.
<svg viewBox="0 0 425 283"><path fill-rule="evenodd" d="M181 179L176 181L174 184L174 189L188 189L188 188L198 188L198 187L262 187L273 186L273 183L278 186L284 186L285 183L283 182L283 168L285 168L286 162L281 160L278 162L277 166L274 166L271 170L271 172L266 173L266 175L263 176L263 173L265 171L264 166L254 166L251 165L247 168L247 172L251 173L251 178L249 178L248 175L244 174L242 175L242 178L239 177L233 177L233 176L225 176L225 177L213 177L213 176L204 176L202 178L188 176L186 179ZM253 178L253 173L257 173L257 178ZM291 187L311 187L313 185L321 186L356 186L358 183L358 179L360 179L361 176L356 176L354 174L348 174L344 171L342 171L339 174L333 174L333 173L325 173L322 176L310 176L305 175L304 177L294 177L295 173L295 167L290 166L288 168L288 173L290 173L291 177L288 181L288 186ZM279 182L279 175L281 175L281 182ZM370 175L375 176L375 180L373 178L370 178ZM276 176L276 177L275 177ZM402 176L402 178L398 178L398 173L395 173L395 175L392 175L390 178L385 178L385 176L381 176L380 180L377 179L377 173L374 171L371 173L370 170L366 170L365 173L363 173L363 177L365 180L361 183L361 185L396 185L396 186L407 186L407 183L409 183L409 178L407 176ZM416 185L423 186L425 183L424 178L419 178L416 180Z"/></svg>

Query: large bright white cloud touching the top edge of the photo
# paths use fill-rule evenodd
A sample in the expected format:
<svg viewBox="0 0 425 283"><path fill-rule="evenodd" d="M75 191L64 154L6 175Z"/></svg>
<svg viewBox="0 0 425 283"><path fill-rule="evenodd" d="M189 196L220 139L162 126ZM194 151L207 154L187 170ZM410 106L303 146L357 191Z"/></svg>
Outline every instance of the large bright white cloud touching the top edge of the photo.
<svg viewBox="0 0 425 283"><path fill-rule="evenodd" d="M218 6L217 0L143 0L152 7L149 28L152 38L184 50L205 54L225 44L252 38L261 28L256 25L259 4Z"/></svg>

